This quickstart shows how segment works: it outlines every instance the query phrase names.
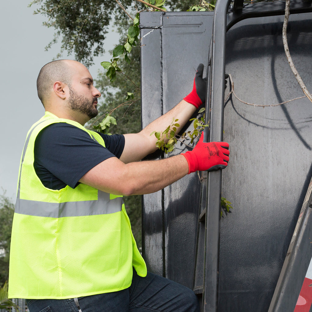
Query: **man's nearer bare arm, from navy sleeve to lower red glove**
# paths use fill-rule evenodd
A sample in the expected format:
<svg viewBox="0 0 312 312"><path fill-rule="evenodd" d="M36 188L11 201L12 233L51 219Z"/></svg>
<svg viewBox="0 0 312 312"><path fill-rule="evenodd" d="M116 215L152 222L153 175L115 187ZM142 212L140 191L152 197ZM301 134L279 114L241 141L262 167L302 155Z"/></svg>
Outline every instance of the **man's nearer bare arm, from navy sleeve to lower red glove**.
<svg viewBox="0 0 312 312"><path fill-rule="evenodd" d="M115 195L154 193L188 173L188 162L183 155L128 164L115 158L104 162L92 168L80 182ZM107 170L107 166L114 170Z"/></svg>

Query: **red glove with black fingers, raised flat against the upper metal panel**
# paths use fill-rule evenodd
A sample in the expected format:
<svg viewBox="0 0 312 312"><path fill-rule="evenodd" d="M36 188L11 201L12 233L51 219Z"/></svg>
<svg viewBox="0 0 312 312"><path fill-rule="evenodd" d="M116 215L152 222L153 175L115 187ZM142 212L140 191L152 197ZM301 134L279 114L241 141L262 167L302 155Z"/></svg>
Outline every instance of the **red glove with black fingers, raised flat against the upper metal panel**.
<svg viewBox="0 0 312 312"><path fill-rule="evenodd" d="M207 77L202 78L203 71L204 65L199 64L194 78L193 90L184 98L184 100L193 104L196 108L206 102Z"/></svg>

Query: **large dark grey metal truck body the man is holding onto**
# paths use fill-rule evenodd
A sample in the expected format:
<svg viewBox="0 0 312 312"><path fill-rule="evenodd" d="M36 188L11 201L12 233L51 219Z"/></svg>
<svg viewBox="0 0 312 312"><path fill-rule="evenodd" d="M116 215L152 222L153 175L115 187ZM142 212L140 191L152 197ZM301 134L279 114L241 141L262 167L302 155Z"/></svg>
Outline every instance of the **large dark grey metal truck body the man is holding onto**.
<svg viewBox="0 0 312 312"><path fill-rule="evenodd" d="M284 15L285 1L242 0L140 14L142 127L188 94L202 63L207 100L193 117L205 114L204 140L230 144L226 169L142 199L148 270L193 289L205 312L312 311L312 103L285 55ZM290 1L286 35L311 93L311 0ZM150 158L191 148L181 141Z"/></svg>

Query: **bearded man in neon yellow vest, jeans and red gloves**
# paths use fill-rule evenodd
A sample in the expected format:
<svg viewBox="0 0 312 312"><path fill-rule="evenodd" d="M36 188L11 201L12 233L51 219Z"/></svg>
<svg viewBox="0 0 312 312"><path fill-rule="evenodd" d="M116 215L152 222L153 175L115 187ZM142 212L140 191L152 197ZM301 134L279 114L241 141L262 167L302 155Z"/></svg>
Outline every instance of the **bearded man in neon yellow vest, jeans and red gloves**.
<svg viewBox="0 0 312 312"><path fill-rule="evenodd" d="M12 226L9 297L37 311L198 311L194 293L147 272L122 195L158 191L197 170L225 168L228 144L139 162L156 150L153 131L180 127L206 95L203 66L192 92L137 134L102 135L83 125L100 92L88 69L70 60L42 67L46 110L27 134Z"/></svg>

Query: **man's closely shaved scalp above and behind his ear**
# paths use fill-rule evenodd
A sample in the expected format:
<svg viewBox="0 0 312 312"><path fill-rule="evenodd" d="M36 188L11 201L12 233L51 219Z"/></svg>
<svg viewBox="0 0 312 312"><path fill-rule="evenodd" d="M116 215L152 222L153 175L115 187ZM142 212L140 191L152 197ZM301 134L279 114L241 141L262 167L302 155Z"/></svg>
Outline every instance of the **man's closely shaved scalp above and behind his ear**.
<svg viewBox="0 0 312 312"><path fill-rule="evenodd" d="M47 100L49 100L51 96L54 82L61 81L70 87L74 63L79 62L57 60L52 61L41 68L37 78L37 92L43 106L45 106Z"/></svg>

